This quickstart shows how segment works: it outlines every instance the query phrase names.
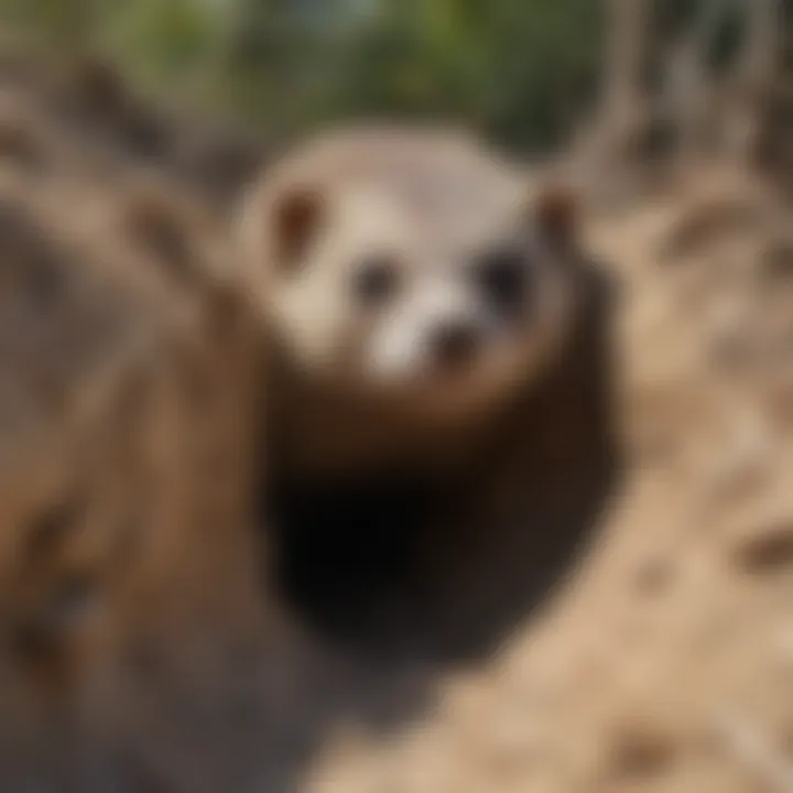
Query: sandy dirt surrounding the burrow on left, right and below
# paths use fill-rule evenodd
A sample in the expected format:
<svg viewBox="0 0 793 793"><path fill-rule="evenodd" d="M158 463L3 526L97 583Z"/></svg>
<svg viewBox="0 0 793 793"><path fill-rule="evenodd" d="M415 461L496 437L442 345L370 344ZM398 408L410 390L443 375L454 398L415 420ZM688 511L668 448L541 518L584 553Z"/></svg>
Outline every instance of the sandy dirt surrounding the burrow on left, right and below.
<svg viewBox="0 0 793 793"><path fill-rule="evenodd" d="M3 787L791 789L783 198L697 166L594 216L619 297L537 399L524 476L424 526L390 587L371 537L292 558L315 617L351 598L328 644L297 636L268 588L283 548L251 528L260 330L210 206L231 188L194 189L183 139L111 75L80 95L20 69L0 68Z"/></svg>

